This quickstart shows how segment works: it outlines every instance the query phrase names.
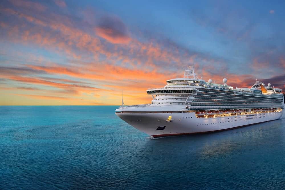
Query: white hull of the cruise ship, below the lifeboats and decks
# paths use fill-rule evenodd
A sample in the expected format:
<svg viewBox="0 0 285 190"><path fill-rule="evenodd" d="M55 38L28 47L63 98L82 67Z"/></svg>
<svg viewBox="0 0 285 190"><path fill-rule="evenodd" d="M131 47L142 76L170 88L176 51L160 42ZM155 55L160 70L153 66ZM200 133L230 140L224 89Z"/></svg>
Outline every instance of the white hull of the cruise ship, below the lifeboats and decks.
<svg viewBox="0 0 285 190"><path fill-rule="evenodd" d="M121 109L119 109L121 110ZM118 111L119 111L118 110ZM138 130L153 136L172 136L216 132L247 126L260 122L280 119L282 111L270 113L254 113L249 115L233 115L227 117L197 118L191 113L119 113L116 115ZM173 122L167 122L172 116ZM158 130L159 126L161 127ZM162 128L164 128L162 130Z"/></svg>

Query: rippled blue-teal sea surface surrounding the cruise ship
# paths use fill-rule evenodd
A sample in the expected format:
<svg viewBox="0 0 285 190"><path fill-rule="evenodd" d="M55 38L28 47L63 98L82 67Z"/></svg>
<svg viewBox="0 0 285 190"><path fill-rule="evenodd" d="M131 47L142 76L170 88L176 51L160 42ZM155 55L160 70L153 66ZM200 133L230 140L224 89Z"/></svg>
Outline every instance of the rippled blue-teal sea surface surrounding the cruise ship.
<svg viewBox="0 0 285 190"><path fill-rule="evenodd" d="M285 118L149 139L116 108L0 107L0 189L285 189Z"/></svg>

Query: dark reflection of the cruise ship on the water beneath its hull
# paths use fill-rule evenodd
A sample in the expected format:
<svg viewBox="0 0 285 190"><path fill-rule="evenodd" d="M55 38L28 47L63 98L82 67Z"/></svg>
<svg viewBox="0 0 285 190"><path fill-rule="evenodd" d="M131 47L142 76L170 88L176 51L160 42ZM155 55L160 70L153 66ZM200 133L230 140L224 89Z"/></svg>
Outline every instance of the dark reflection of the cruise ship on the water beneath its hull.
<svg viewBox="0 0 285 190"><path fill-rule="evenodd" d="M143 154L198 156L199 159L227 156L233 152L239 154L284 142L284 124L285 118L224 132L151 139L146 143Z"/></svg>

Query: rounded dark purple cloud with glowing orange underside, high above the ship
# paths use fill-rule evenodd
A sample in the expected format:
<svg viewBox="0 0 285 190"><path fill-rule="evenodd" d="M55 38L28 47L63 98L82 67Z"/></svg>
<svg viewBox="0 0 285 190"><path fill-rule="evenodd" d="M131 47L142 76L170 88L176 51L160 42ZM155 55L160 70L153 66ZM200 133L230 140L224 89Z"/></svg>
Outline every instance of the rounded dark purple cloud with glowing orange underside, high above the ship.
<svg viewBox="0 0 285 190"><path fill-rule="evenodd" d="M131 40L125 24L116 17L104 17L95 28L96 34L113 44L127 44Z"/></svg>

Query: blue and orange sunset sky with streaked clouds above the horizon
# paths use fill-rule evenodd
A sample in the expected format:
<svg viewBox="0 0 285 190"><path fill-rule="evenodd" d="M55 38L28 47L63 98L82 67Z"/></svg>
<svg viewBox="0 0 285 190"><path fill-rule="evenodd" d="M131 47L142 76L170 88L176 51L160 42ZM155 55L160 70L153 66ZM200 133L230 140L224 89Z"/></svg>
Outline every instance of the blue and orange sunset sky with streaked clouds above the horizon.
<svg viewBox="0 0 285 190"><path fill-rule="evenodd" d="M150 103L182 77L285 92L285 1L0 2L0 105Z"/></svg>

